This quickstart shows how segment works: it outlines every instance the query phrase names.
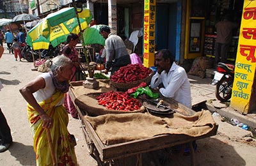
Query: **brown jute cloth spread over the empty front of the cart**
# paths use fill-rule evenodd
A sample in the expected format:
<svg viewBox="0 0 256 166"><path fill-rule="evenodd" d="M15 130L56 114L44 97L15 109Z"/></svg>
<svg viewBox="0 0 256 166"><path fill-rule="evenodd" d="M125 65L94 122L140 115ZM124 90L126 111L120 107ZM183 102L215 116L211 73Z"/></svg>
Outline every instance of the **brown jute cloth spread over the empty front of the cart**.
<svg viewBox="0 0 256 166"><path fill-rule="evenodd" d="M185 134L199 137L216 126L209 110L193 116L174 113L168 117L148 113L106 114L97 117L84 116L92 124L103 144L112 145L131 140L147 139L163 134Z"/></svg>

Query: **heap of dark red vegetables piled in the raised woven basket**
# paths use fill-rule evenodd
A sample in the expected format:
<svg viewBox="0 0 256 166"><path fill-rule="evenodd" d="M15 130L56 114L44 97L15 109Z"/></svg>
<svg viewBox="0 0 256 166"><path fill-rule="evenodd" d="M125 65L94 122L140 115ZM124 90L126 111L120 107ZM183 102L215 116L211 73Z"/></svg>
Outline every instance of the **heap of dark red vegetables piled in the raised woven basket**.
<svg viewBox="0 0 256 166"><path fill-rule="evenodd" d="M113 82L132 82L135 80L145 79L152 73L150 68L146 68L142 64L128 64L121 67L112 76Z"/></svg>

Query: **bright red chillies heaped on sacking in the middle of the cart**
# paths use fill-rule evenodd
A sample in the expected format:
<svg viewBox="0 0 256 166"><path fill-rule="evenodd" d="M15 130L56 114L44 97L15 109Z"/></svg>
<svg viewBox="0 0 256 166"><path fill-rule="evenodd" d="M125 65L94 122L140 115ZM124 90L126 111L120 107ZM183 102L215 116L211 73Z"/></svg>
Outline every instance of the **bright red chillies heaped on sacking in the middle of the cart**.
<svg viewBox="0 0 256 166"><path fill-rule="evenodd" d="M99 105L103 105L110 110L131 111L139 110L141 107L141 103L138 100L124 92L109 91L100 94L96 99L98 100Z"/></svg>

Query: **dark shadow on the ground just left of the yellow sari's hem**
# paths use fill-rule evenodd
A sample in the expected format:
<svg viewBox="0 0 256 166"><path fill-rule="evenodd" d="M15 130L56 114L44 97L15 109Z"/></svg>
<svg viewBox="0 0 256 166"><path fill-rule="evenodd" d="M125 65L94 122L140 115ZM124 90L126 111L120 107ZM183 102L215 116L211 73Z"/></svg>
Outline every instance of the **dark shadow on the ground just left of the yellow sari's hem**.
<svg viewBox="0 0 256 166"><path fill-rule="evenodd" d="M20 165L36 165L36 155L33 146L13 142L8 151L20 162Z"/></svg>

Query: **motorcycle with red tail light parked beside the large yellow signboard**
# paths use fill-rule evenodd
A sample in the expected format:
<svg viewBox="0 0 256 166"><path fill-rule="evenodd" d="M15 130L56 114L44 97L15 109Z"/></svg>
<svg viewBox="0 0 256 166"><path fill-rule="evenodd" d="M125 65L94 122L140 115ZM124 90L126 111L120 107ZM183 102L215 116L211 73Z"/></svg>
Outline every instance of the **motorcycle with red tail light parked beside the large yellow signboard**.
<svg viewBox="0 0 256 166"><path fill-rule="evenodd" d="M218 63L217 65L212 85L216 85L215 96L221 102L227 102L231 98L234 70L233 64Z"/></svg>

